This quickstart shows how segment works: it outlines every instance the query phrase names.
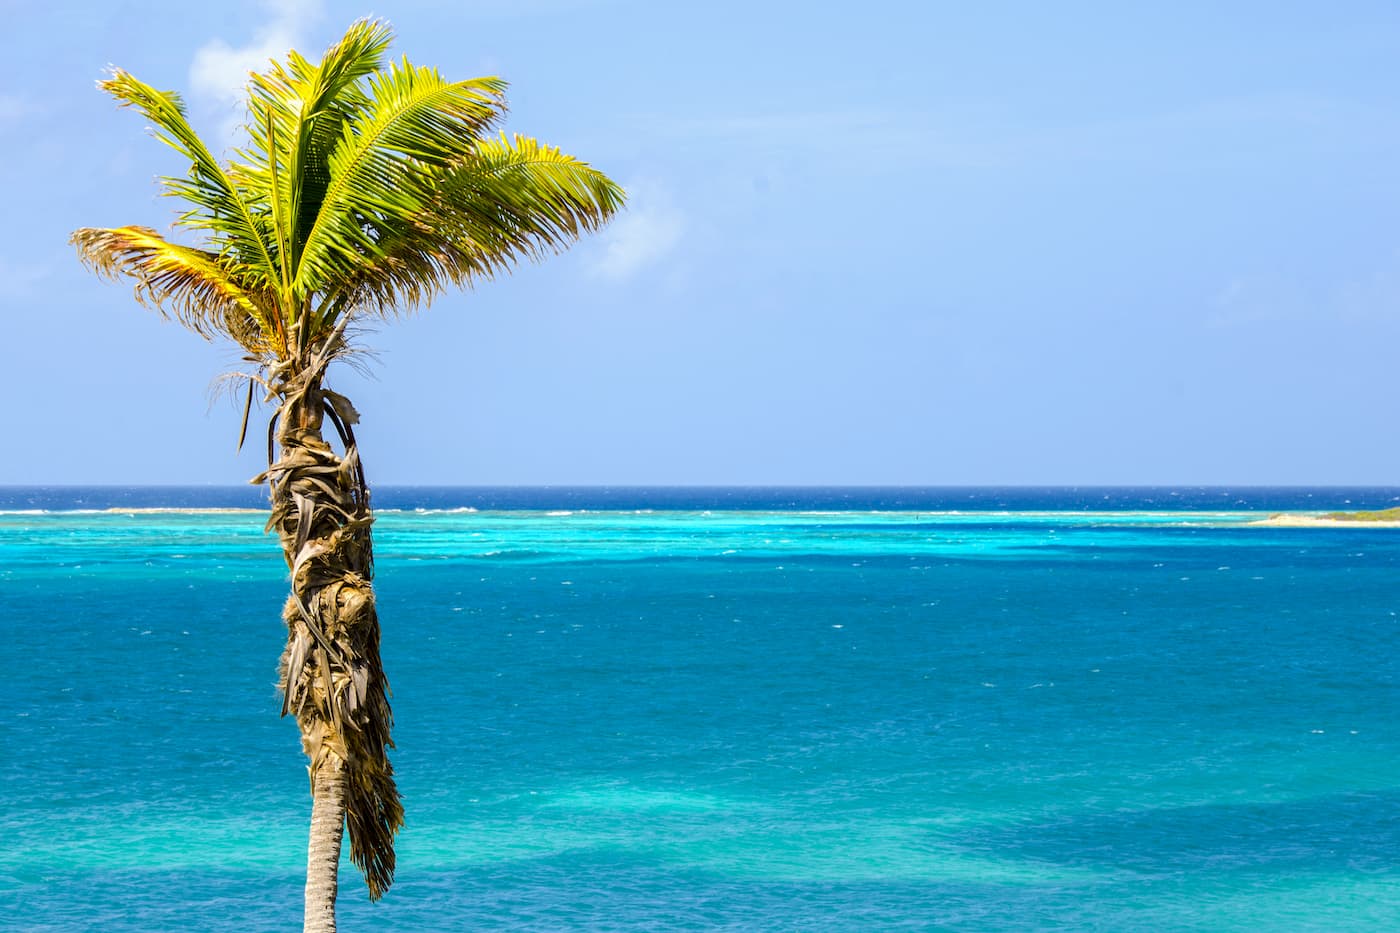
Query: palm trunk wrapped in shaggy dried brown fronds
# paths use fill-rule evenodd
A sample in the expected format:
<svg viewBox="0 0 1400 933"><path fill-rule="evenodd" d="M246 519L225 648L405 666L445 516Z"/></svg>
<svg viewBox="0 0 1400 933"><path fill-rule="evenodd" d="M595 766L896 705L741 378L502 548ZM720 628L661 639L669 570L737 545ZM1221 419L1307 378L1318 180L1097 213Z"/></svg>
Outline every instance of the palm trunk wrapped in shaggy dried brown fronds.
<svg viewBox="0 0 1400 933"><path fill-rule="evenodd" d="M283 714L301 728L311 776L305 932L336 929L336 873L343 827L370 899L393 883L393 835L403 807L388 749L388 681L379 663L370 492L349 401L314 375L290 384L279 410L280 459L266 478L291 595L283 608ZM322 437L329 419L343 454Z"/></svg>

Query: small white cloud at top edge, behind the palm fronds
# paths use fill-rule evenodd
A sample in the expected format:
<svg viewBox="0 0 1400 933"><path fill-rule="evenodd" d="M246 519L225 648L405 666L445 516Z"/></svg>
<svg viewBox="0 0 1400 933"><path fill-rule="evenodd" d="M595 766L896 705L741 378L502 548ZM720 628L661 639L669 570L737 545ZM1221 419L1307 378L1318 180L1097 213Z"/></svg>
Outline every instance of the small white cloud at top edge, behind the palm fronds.
<svg viewBox="0 0 1400 933"><path fill-rule="evenodd" d="M262 6L272 18L253 32L251 42L232 46L221 38L211 39L195 52L189 66L190 88L223 118L220 133L225 143L242 123L248 74L300 45L322 13L321 0L263 0Z"/></svg>

